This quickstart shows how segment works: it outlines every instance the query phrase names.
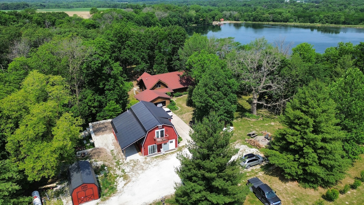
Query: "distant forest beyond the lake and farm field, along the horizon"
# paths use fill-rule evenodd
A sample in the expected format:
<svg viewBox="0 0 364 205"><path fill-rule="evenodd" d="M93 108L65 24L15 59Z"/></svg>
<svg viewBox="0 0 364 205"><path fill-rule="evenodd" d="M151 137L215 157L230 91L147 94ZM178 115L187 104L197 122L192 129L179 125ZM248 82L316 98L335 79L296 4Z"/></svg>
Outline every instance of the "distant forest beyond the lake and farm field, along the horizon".
<svg viewBox="0 0 364 205"><path fill-rule="evenodd" d="M175 1L2 1L1 10L26 8L123 8L143 10L150 7L163 16L178 19L179 26L207 24L221 18L253 22L297 22L361 25L364 3L359 0L175 0Z"/></svg>

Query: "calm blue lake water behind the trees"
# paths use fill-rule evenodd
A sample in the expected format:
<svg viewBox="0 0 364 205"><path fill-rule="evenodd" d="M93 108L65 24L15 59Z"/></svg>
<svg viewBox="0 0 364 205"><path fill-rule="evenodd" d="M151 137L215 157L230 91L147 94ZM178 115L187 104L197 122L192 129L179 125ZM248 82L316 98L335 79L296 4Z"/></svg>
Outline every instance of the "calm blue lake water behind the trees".
<svg viewBox="0 0 364 205"><path fill-rule="evenodd" d="M293 47L307 42L313 45L317 53L324 53L328 47L336 47L339 42L351 42L357 45L364 42L364 28L346 28L329 26L297 26L287 24L264 23L225 23L219 25L205 25L187 27L189 35L193 32L215 36L215 38L234 37L242 45L250 43L263 36L269 43L285 38L286 42L293 42Z"/></svg>

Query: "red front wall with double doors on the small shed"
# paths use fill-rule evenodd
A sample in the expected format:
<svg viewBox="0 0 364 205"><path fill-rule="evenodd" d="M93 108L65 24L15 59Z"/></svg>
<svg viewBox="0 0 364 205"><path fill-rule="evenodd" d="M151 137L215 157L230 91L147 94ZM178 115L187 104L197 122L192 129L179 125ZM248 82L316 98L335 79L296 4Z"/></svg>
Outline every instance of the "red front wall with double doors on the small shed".
<svg viewBox="0 0 364 205"><path fill-rule="evenodd" d="M79 205L88 201L99 199L99 189L93 183L84 183L83 185L74 189L72 193L72 203Z"/></svg>

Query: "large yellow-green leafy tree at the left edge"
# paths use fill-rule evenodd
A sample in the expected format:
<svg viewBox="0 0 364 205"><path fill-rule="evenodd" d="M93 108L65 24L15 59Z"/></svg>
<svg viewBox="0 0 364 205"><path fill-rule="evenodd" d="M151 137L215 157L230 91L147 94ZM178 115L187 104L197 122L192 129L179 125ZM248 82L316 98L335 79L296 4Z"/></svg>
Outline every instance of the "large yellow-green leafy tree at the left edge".
<svg viewBox="0 0 364 205"><path fill-rule="evenodd" d="M69 93L64 78L31 71L20 90L0 100L6 151L29 181L53 177L74 157L83 121L66 112Z"/></svg>

